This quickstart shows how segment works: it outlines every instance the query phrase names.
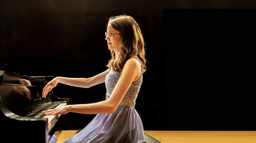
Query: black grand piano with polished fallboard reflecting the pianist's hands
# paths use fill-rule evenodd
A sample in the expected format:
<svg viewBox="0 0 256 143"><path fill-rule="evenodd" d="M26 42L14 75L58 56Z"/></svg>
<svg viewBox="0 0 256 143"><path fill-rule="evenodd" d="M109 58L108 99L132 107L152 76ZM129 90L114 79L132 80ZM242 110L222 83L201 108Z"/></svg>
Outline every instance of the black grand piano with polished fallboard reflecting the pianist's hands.
<svg viewBox="0 0 256 143"><path fill-rule="evenodd" d="M64 115L42 111L69 104L50 91L42 98L44 86L53 76L30 77L0 70L1 140L6 142L48 143L57 140Z"/></svg>

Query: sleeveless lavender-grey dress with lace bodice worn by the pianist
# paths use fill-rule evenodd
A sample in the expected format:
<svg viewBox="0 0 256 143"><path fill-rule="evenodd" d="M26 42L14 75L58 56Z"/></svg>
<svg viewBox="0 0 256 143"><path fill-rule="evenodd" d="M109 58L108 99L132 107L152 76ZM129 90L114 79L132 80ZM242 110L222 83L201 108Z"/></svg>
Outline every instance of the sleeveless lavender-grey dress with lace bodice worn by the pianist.
<svg viewBox="0 0 256 143"><path fill-rule="evenodd" d="M110 68L105 78L106 100L109 99L120 76L120 72ZM97 114L82 131L64 143L144 143L143 125L134 109L141 84L142 67L140 78L132 82L114 113Z"/></svg>

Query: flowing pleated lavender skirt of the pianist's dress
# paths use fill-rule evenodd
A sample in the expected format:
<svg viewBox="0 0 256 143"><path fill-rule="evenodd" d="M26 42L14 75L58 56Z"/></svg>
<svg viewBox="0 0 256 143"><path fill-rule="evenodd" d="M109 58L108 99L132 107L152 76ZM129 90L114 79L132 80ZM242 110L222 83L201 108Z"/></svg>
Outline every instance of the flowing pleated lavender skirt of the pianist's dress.
<svg viewBox="0 0 256 143"><path fill-rule="evenodd" d="M143 125L133 107L119 105L115 112L97 114L64 143L144 143Z"/></svg>

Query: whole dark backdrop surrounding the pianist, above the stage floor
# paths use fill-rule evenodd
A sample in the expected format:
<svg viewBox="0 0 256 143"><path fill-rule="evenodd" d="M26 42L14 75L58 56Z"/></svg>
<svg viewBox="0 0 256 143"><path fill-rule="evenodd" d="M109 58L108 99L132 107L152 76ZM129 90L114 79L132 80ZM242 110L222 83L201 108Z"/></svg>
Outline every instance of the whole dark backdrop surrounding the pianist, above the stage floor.
<svg viewBox="0 0 256 143"><path fill-rule="evenodd" d="M146 43L148 71L135 106L144 130L255 130L248 64L255 6L228 0L1 0L0 68L92 77L110 59L108 18L127 14ZM106 88L59 84L53 92L79 104L104 100ZM69 113L65 129L83 128L94 116Z"/></svg>

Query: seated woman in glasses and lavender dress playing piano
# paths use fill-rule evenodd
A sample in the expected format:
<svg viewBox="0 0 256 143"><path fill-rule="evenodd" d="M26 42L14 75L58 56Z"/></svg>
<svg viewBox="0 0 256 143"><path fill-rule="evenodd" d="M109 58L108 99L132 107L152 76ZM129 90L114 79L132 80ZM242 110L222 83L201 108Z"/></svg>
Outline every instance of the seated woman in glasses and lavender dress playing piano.
<svg viewBox="0 0 256 143"><path fill-rule="evenodd" d="M43 111L46 115L68 112L97 114L82 131L65 143L145 142L143 125L134 109L142 73L146 71L143 35L137 22L127 15L111 17L105 35L112 54L107 71L88 79L56 77L43 89L45 97L58 83L89 88L105 82L105 101Z"/></svg>

